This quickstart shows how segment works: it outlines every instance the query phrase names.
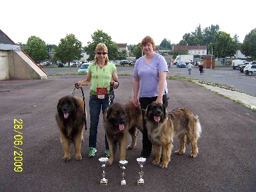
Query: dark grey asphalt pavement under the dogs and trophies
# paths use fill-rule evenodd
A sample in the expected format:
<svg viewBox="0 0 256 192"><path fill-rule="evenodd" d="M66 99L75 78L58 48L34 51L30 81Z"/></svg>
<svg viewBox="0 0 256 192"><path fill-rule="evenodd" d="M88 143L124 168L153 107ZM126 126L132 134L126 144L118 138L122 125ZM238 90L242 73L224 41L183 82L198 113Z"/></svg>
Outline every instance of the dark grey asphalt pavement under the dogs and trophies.
<svg viewBox="0 0 256 192"><path fill-rule="evenodd" d="M152 164L154 152L143 168L144 186L138 186L142 135L127 151L126 186L120 186L122 170L118 152L106 167L108 185L101 186L104 129L100 116L97 154L87 157L89 131L84 131L83 159L64 163L60 134L54 115L58 100L72 95L74 84L85 76L49 76L48 79L0 81L0 191L255 191L256 113L252 109L189 81L168 80L168 111L189 108L200 118L202 135L198 157L175 155L166 169ZM119 76L115 102L132 100L132 77ZM89 87L83 87L88 111ZM76 96L81 90L76 90ZM90 127L90 115L87 126ZM129 140L130 141L130 140ZM20 171L20 172L19 172Z"/></svg>

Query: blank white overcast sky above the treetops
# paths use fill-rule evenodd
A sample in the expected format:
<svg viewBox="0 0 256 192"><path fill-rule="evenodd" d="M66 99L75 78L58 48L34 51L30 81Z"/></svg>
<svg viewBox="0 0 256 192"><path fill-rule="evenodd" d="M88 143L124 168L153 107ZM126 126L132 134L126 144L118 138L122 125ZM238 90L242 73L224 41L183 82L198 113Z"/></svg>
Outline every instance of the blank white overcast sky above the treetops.
<svg viewBox="0 0 256 192"><path fill-rule="evenodd" d="M149 35L156 45L166 38L178 44L185 33L219 25L233 38L244 37L256 28L252 1L171 0L22 0L1 2L0 29L16 44L37 36L45 44L60 43L74 34L83 46L99 30L117 44L138 44Z"/></svg>

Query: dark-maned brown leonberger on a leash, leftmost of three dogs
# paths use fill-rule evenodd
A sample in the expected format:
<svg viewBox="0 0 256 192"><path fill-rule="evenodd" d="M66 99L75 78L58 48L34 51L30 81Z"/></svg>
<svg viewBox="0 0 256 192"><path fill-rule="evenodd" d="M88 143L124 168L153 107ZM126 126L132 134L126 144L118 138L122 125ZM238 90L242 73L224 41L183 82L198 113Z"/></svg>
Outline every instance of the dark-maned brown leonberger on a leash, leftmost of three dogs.
<svg viewBox="0 0 256 192"><path fill-rule="evenodd" d="M70 143L74 143L76 160L81 161L81 142L83 141L84 127L83 99L73 96L61 97L57 104L55 118L64 150L63 161L70 161Z"/></svg>

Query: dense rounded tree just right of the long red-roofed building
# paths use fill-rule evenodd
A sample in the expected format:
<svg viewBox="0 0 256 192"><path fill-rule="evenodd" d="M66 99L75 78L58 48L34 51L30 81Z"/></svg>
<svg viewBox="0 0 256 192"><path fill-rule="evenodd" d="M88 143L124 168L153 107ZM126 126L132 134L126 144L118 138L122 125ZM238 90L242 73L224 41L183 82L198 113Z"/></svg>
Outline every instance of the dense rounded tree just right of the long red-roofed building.
<svg viewBox="0 0 256 192"><path fill-rule="evenodd" d="M227 56L232 57L237 51L237 44L234 41L230 34L225 33L224 31L219 31L215 33L216 42L213 45L213 54L220 58L225 58ZM211 45L209 45L211 49Z"/></svg>

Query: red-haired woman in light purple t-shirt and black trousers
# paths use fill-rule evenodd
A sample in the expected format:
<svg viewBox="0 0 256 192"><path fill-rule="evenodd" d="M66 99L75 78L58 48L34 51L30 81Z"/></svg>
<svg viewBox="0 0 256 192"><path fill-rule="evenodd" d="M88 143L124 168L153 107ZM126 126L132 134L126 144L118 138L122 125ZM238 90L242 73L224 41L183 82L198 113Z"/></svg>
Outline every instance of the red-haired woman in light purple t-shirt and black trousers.
<svg viewBox="0 0 256 192"><path fill-rule="evenodd" d="M168 66L163 56L154 52L156 45L150 36L145 36L141 41L144 56L139 58L133 72L133 102L138 106L140 102L143 116L148 104L161 102L168 106L166 74ZM139 100L138 100L138 93ZM141 157L148 158L152 150L152 143L148 140L146 122L143 119L143 150Z"/></svg>

